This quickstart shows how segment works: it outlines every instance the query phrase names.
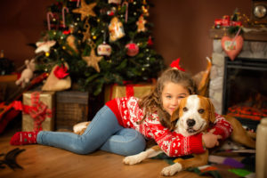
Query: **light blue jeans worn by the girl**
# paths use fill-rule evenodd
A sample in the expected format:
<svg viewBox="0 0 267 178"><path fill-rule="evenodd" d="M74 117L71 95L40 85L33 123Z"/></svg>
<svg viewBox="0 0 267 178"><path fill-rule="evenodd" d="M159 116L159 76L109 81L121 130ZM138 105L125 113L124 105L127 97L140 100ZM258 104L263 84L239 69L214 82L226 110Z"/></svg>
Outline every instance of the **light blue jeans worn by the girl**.
<svg viewBox="0 0 267 178"><path fill-rule="evenodd" d="M41 131L37 134L37 143L77 154L100 149L123 156L140 153L146 146L142 134L119 125L117 117L106 105L93 117L84 134Z"/></svg>

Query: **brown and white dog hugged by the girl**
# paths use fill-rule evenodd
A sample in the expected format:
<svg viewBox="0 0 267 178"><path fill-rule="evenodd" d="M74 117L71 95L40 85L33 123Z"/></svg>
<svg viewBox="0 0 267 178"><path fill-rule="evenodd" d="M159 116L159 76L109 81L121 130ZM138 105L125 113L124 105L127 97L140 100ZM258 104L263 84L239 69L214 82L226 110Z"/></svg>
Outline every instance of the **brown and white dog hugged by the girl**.
<svg viewBox="0 0 267 178"><path fill-rule="evenodd" d="M223 116L231 123L233 128L231 139L235 142L255 148L255 141L247 135L247 131L242 127L239 121L234 117ZM214 105L212 102L200 95L190 95L182 99L180 106L176 109L171 117L171 122L176 121L174 131L183 136L190 136L200 132L206 132L210 123L214 123ZM123 162L126 165L134 165L142 162L145 158L152 158L162 153L159 146L154 146L141 153L125 157ZM202 154L193 154L193 158L175 159L172 166L166 166L161 174L174 175L189 167L204 166L208 161L208 150Z"/></svg>

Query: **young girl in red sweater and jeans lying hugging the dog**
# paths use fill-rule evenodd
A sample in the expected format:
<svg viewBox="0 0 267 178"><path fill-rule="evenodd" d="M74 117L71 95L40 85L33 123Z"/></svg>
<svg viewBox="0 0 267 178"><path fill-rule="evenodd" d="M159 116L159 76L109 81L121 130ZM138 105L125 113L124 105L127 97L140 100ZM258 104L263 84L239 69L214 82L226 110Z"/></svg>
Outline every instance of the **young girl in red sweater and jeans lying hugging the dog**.
<svg viewBox="0 0 267 178"><path fill-rule="evenodd" d="M82 135L47 131L19 132L12 136L11 144L39 143L77 154L88 154L100 149L129 156L144 150L144 136L155 140L170 157L202 153L206 148L217 145L218 139L228 137L231 125L216 115L213 133L174 136L170 130L170 116L179 106L180 100L192 93L197 93L197 87L189 74L178 69L166 69L158 78L155 89L141 100L123 97L108 101Z"/></svg>

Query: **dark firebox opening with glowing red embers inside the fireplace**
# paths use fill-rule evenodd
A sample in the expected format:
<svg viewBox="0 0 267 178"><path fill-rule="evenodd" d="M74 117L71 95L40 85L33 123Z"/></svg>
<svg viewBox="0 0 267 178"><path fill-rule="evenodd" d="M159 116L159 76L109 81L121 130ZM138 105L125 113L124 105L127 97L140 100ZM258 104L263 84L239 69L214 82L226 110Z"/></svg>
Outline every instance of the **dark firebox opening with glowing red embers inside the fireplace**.
<svg viewBox="0 0 267 178"><path fill-rule="evenodd" d="M224 60L223 114L255 130L267 117L267 60Z"/></svg>

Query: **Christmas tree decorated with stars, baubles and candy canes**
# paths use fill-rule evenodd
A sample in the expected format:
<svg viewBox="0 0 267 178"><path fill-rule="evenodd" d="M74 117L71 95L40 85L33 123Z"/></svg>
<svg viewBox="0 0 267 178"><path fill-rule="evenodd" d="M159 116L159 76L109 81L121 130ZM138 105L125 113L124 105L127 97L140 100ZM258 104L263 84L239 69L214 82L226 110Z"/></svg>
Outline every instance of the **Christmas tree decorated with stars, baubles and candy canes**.
<svg viewBox="0 0 267 178"><path fill-rule="evenodd" d="M165 68L153 49L152 4L146 0L58 0L36 43L38 69L69 64L69 75L93 95L109 84L147 82Z"/></svg>

